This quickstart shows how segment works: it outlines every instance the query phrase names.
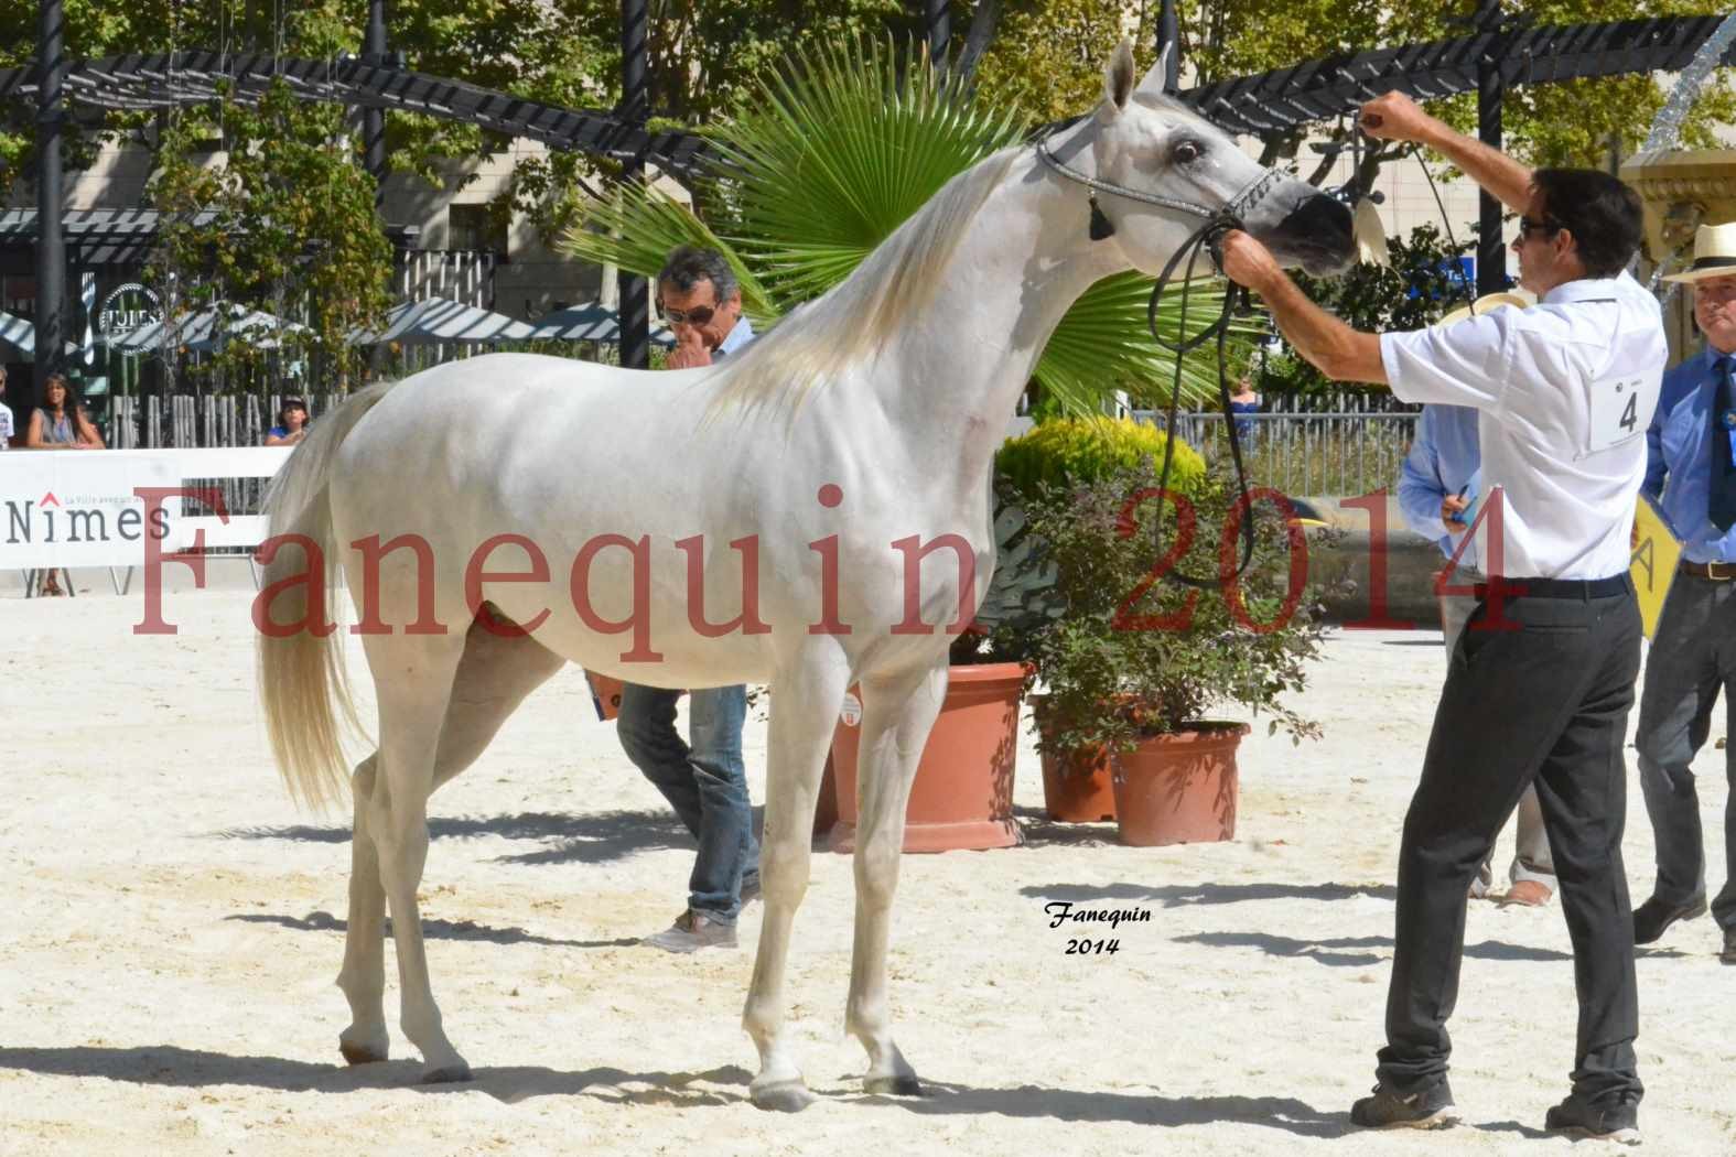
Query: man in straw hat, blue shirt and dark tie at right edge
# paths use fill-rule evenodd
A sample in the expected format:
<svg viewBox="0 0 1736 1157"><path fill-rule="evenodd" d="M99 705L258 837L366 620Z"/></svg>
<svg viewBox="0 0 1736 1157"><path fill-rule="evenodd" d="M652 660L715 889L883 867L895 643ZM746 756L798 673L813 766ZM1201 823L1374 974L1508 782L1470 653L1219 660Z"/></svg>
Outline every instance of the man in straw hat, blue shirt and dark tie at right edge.
<svg viewBox="0 0 1736 1157"><path fill-rule="evenodd" d="M1693 265L1668 281L1691 286L1706 345L1665 375L1646 434L1646 493L1682 539L1682 562L1651 642L1634 744L1658 857L1651 899L1634 909L1635 944L1706 911L1689 763L1712 730L1719 690L1736 687L1736 224L1701 226ZM1724 774L1736 788L1729 751ZM1724 930L1719 959L1736 964L1736 791L1724 812L1724 888L1712 916Z"/></svg>

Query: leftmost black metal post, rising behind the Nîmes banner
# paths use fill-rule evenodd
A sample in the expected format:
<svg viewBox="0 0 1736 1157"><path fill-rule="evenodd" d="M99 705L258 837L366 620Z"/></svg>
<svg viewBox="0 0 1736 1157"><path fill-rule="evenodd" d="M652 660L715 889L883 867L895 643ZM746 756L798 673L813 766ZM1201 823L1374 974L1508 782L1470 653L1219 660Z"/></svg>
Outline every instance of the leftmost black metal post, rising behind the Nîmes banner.
<svg viewBox="0 0 1736 1157"><path fill-rule="evenodd" d="M50 373L66 368L66 238L61 231L61 125L66 83L61 0L36 7L36 401Z"/></svg>

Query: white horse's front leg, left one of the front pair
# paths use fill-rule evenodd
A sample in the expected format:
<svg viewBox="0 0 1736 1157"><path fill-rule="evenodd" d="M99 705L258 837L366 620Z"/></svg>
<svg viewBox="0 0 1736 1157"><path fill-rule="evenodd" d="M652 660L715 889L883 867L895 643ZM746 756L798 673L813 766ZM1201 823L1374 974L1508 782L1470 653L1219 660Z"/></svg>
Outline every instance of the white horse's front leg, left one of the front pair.
<svg viewBox="0 0 1736 1157"><path fill-rule="evenodd" d="M760 925L753 984L741 1027L759 1048L760 1070L748 1088L760 1108L795 1112L814 1101L790 1049L783 990L790 958L790 928L807 893L814 841L814 805L825 772L826 748L849 682L842 654L819 650L804 663L779 670L773 683L771 727L766 749L766 833L760 840L760 888L766 916Z"/></svg>

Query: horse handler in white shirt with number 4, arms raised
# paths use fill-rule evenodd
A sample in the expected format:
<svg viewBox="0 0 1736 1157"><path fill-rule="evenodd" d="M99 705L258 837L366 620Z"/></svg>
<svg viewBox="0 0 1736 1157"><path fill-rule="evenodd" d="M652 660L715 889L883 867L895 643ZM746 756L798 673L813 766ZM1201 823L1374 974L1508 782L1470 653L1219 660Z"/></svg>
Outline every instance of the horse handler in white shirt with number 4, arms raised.
<svg viewBox="0 0 1736 1157"><path fill-rule="evenodd" d="M1417 333L1358 333L1309 302L1259 241L1224 238L1224 272L1266 298L1285 338L1326 376L1481 411L1488 498L1472 533L1489 585L1477 588L1453 650L1404 817L1387 1046L1375 1093L1356 1101L1351 1121L1457 1119L1446 1020L1458 997L1465 890L1535 782L1580 997L1573 1091L1545 1128L1637 1141L1621 744L1641 618L1627 571L1667 359L1658 302L1623 272L1641 241L1641 201L1595 170L1533 172L1403 94L1364 104L1363 127L1439 149L1522 213L1514 250L1538 304Z"/></svg>

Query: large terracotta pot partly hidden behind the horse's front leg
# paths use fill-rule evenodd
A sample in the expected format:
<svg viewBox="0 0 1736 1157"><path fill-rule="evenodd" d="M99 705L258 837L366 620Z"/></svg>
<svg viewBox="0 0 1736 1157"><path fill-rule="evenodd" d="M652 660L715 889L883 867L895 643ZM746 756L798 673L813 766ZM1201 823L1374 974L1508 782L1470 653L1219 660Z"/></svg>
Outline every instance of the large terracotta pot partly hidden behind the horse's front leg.
<svg viewBox="0 0 1736 1157"><path fill-rule="evenodd" d="M1010 848L1023 843L1019 824L1012 819L1023 685L1021 663L951 668L946 699L922 749L904 810L904 852ZM854 689L851 696L856 696ZM859 741L861 701L847 699L832 737L832 768L838 788L833 852L856 850Z"/></svg>

